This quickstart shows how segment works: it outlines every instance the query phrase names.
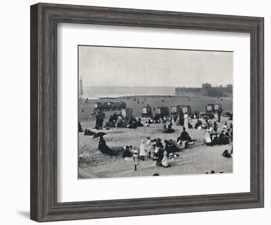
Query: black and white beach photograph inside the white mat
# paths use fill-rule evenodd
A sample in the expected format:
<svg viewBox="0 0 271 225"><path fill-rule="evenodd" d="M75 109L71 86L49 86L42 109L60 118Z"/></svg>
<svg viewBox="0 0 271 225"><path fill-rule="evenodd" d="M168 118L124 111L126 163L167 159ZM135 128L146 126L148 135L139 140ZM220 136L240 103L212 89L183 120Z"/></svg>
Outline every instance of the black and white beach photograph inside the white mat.
<svg viewBox="0 0 271 225"><path fill-rule="evenodd" d="M78 178L233 173L233 52L78 45Z"/></svg>

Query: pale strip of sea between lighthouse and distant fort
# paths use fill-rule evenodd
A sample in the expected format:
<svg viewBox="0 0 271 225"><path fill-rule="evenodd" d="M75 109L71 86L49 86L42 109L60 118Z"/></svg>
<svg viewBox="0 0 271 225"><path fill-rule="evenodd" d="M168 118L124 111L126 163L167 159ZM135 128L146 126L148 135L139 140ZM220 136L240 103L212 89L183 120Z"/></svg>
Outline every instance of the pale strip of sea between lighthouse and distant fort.
<svg viewBox="0 0 271 225"><path fill-rule="evenodd" d="M174 95L175 87L83 87L82 98L117 98L134 95Z"/></svg>

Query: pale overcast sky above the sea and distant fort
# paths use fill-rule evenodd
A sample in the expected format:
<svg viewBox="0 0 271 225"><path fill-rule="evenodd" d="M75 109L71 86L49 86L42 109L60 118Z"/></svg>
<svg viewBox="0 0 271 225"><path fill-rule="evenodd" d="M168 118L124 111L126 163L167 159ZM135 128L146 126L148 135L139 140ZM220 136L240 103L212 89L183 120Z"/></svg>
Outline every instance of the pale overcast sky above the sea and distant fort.
<svg viewBox="0 0 271 225"><path fill-rule="evenodd" d="M233 52L79 46L78 66L83 86L233 83Z"/></svg>

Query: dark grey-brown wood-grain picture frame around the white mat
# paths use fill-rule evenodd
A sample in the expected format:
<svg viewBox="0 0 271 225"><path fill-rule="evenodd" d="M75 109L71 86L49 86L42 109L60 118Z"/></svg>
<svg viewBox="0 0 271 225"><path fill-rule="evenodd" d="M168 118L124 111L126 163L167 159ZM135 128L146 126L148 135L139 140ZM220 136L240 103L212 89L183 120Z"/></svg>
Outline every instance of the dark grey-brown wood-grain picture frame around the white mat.
<svg viewBox="0 0 271 225"><path fill-rule="evenodd" d="M57 202L57 23L250 34L250 192ZM31 219L37 222L264 207L264 18L37 3L31 6Z"/></svg>

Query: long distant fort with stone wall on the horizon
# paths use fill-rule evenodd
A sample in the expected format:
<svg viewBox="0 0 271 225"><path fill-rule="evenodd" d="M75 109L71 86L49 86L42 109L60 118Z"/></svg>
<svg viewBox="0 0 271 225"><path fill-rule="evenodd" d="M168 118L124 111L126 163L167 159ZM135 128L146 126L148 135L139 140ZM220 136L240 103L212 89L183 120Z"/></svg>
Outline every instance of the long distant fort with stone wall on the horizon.
<svg viewBox="0 0 271 225"><path fill-rule="evenodd" d="M175 95L178 96L211 96L211 97L232 97L233 85L228 84L226 87L217 85L212 87L210 83L203 83L202 87L176 87Z"/></svg>

